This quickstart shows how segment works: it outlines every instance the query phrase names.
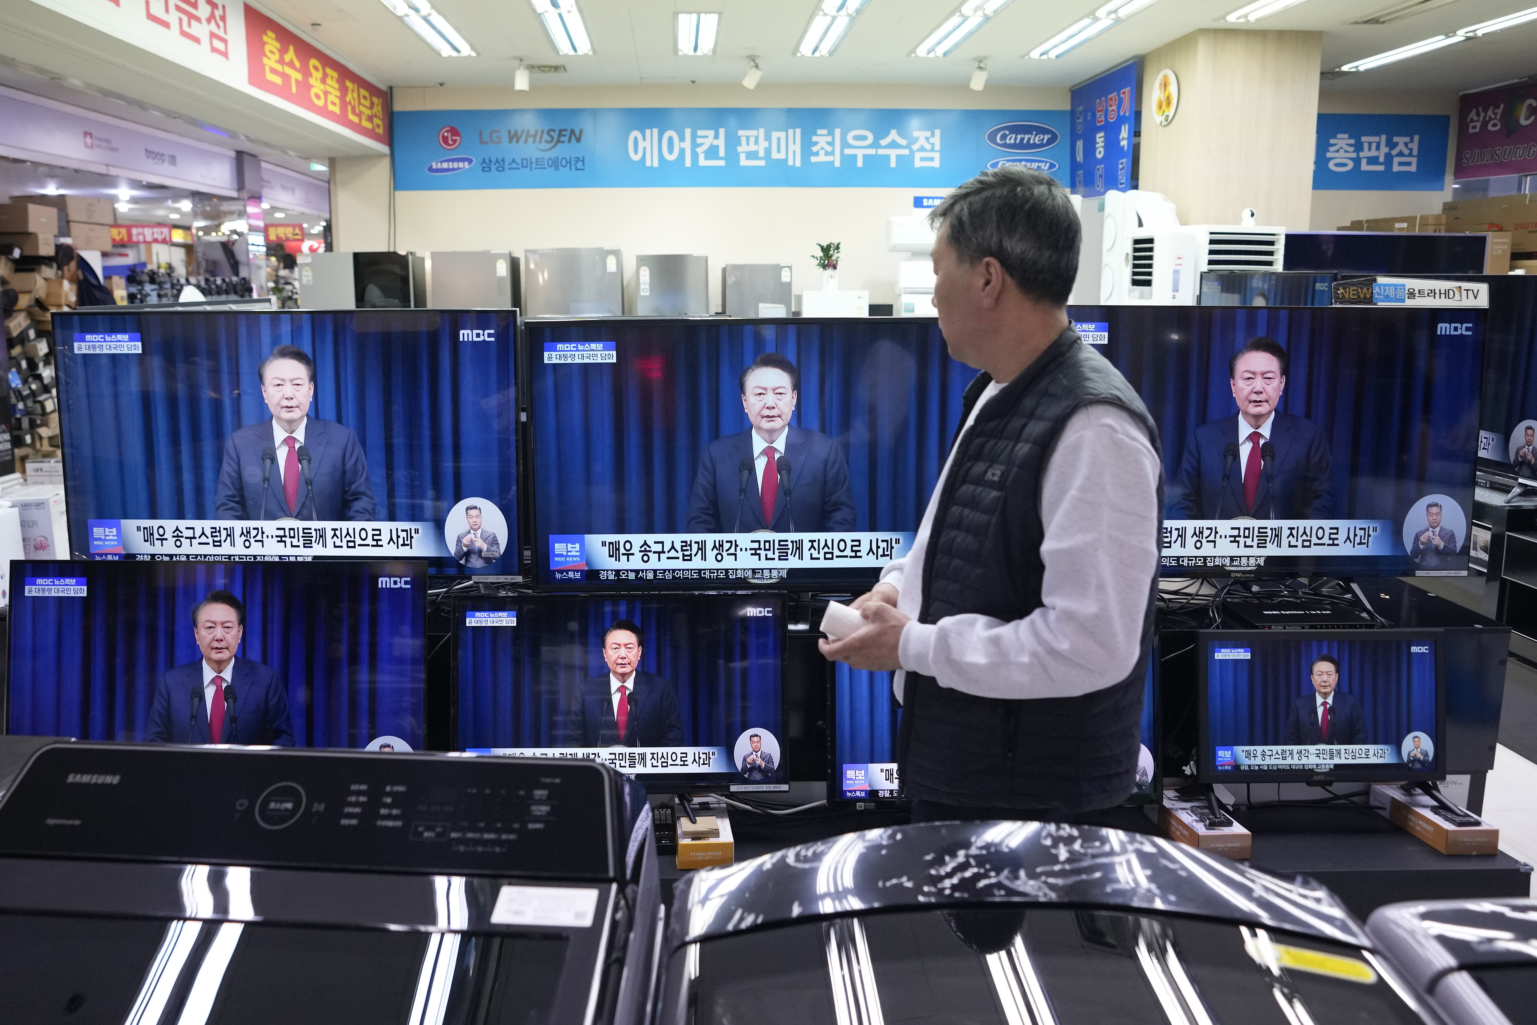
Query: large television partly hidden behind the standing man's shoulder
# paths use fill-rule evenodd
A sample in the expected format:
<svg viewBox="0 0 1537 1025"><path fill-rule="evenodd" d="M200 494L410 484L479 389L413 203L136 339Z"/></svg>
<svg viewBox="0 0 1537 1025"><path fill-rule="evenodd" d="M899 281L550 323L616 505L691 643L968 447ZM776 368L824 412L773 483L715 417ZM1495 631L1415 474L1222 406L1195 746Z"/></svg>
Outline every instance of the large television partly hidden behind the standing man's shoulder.
<svg viewBox="0 0 1537 1025"><path fill-rule="evenodd" d="M1468 573L1485 310L1070 312L1157 424L1165 575Z"/></svg>

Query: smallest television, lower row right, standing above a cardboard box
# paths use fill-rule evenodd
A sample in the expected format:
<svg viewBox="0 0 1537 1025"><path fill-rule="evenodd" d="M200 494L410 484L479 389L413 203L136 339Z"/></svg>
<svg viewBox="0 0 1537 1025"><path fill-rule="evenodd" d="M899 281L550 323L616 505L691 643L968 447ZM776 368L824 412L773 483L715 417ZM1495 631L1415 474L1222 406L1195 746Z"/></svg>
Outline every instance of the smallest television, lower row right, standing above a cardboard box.
<svg viewBox="0 0 1537 1025"><path fill-rule="evenodd" d="M1436 630L1203 630L1205 782L1440 779Z"/></svg>

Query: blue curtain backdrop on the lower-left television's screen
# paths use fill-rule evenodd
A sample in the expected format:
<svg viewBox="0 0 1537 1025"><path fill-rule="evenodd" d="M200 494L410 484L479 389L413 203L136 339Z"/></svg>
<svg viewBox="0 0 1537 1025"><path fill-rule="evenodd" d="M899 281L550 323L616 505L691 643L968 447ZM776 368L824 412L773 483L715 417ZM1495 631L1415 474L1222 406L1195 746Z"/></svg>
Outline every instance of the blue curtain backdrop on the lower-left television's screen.
<svg viewBox="0 0 1537 1025"><path fill-rule="evenodd" d="M421 564L17 562L17 575L86 578L85 598L11 605L11 733L144 739L157 678L201 655L192 609L212 590L246 605L237 658L287 684L300 747L363 747L423 733ZM25 572L23 572L25 567ZM381 589L380 576L412 578Z"/></svg>

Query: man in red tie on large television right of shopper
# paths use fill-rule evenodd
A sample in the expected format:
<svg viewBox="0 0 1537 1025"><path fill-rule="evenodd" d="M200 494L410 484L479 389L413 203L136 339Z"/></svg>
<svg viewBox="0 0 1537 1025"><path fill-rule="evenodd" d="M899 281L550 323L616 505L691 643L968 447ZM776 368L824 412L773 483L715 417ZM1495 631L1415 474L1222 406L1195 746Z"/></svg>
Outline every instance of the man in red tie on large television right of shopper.
<svg viewBox="0 0 1537 1025"><path fill-rule="evenodd" d="M1228 361L1239 412L1196 427L1170 489L1170 519L1330 519L1330 446L1310 420L1276 409L1291 360L1273 338L1251 338ZM1266 446L1274 455L1265 464Z"/></svg>

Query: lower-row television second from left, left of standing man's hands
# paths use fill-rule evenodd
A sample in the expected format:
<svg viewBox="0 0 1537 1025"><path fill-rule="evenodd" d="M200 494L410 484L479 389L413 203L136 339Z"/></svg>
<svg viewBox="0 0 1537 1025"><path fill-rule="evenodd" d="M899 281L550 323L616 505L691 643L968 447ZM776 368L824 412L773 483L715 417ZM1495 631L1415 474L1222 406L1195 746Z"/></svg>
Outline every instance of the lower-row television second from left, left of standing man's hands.
<svg viewBox="0 0 1537 1025"><path fill-rule="evenodd" d="M461 598L455 619L463 750L595 758L664 791L821 779L787 758L778 595Z"/></svg>

